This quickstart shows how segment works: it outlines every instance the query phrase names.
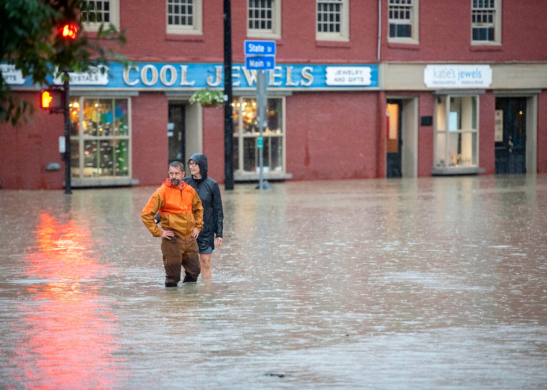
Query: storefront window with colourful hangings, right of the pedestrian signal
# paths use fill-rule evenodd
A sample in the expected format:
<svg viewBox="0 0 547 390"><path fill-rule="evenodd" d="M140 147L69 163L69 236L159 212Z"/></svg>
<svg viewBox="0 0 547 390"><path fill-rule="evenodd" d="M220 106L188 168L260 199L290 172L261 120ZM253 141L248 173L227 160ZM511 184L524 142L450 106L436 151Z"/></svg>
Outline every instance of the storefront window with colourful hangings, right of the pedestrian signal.
<svg viewBox="0 0 547 390"><path fill-rule="evenodd" d="M128 99L71 98L73 178L129 176Z"/></svg>

